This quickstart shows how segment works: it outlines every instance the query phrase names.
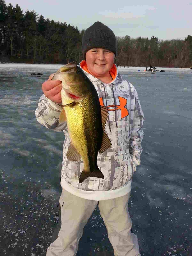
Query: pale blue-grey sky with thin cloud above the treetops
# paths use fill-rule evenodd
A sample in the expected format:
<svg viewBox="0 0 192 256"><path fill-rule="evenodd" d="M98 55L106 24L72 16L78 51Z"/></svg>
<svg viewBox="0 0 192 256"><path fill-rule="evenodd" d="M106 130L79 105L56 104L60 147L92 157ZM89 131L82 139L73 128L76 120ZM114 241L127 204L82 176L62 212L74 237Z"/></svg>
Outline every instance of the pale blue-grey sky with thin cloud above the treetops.
<svg viewBox="0 0 192 256"><path fill-rule="evenodd" d="M192 35L192 0L5 0L5 3L14 7L19 4L23 13L35 10L45 19L70 23L79 30L101 21L116 36L157 36L159 40L170 40Z"/></svg>

